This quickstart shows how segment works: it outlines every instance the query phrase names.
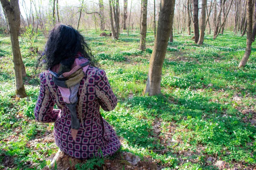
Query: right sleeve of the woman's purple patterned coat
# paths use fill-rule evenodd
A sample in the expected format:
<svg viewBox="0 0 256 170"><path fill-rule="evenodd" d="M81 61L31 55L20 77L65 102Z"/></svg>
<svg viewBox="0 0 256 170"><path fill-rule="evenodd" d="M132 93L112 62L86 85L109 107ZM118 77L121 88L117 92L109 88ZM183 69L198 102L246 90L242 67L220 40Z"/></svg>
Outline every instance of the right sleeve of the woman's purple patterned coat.
<svg viewBox="0 0 256 170"><path fill-rule="evenodd" d="M117 99L113 93L105 71L99 70L95 76L96 98L104 111L112 111L117 104Z"/></svg>

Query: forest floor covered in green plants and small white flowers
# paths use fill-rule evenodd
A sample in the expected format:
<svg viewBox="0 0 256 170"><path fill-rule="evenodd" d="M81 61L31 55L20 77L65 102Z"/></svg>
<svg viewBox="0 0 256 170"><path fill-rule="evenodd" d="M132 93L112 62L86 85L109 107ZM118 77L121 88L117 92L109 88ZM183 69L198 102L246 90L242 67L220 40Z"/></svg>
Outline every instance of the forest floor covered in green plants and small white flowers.
<svg viewBox="0 0 256 170"><path fill-rule="evenodd" d="M206 35L199 46L193 35L175 35L163 65L163 95L143 96L154 34L148 32L147 50L141 52L138 32L123 33L119 40L81 33L118 97L114 111L101 113L122 148L116 156L77 169L147 169L152 164L164 170L256 169L255 43L245 68L237 68L246 36L225 32L212 40ZM42 169L58 151L53 124L35 122L33 115L39 91L33 77L43 71L35 72L35 49L42 51L46 40L28 35L20 37L28 99L15 97L11 44L0 35L0 169L5 170Z"/></svg>

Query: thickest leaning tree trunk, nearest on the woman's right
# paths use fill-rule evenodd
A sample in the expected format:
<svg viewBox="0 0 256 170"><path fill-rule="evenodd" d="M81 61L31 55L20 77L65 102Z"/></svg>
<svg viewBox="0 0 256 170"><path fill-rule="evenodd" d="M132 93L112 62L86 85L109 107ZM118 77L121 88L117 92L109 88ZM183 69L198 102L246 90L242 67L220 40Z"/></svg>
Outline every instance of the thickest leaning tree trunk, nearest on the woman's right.
<svg viewBox="0 0 256 170"><path fill-rule="evenodd" d="M150 58L148 68L148 80L144 94L154 96L161 93L161 77L163 61L166 55L168 39L171 31L172 0L161 0L159 20L157 25L157 35L154 40L153 53Z"/></svg>

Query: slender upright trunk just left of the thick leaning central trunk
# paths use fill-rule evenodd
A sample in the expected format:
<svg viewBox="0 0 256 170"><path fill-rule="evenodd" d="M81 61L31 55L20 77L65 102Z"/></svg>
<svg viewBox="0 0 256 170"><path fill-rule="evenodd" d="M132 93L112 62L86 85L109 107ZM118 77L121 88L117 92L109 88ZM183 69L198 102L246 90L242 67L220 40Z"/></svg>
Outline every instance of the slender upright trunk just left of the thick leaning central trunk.
<svg viewBox="0 0 256 170"><path fill-rule="evenodd" d="M141 20L141 31L140 31L140 50L146 49L146 34L147 34L147 7L148 0L142 0L142 20Z"/></svg>

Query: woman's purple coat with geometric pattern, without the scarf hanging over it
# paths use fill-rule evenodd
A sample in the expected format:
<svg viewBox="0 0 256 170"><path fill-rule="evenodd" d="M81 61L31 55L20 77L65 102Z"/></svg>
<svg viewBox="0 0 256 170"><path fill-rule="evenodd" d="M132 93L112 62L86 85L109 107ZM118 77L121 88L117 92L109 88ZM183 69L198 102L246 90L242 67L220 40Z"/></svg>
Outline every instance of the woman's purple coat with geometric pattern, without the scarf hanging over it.
<svg viewBox="0 0 256 170"><path fill-rule="evenodd" d="M103 156L112 156L120 148L115 131L99 113L100 106L105 111L112 111L117 103L105 71L90 66L80 82L76 111L82 115L83 121L80 122L84 127L81 123L76 141L71 136L69 109L52 80L52 74L45 71L40 74L40 80L35 119L44 123L55 122L55 143L61 151L75 158L88 159L100 156L100 149ZM53 109L55 104L58 109Z"/></svg>

